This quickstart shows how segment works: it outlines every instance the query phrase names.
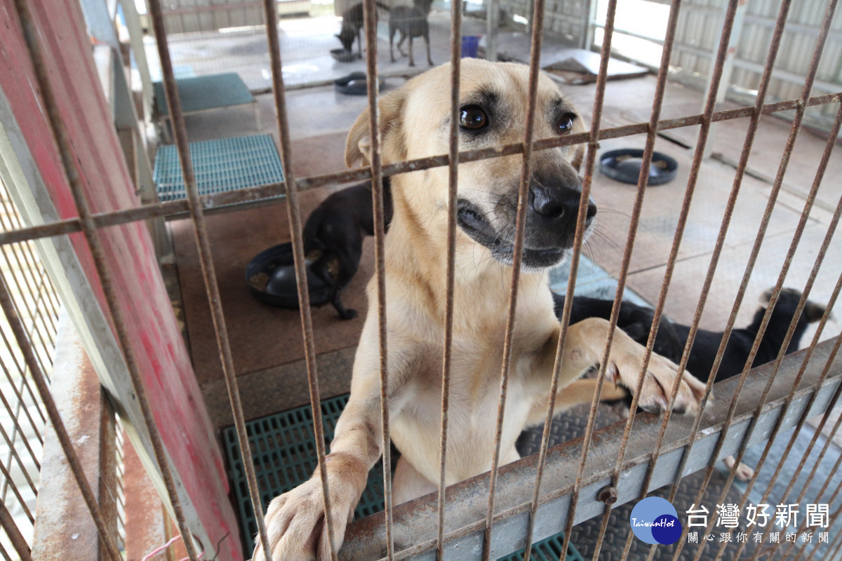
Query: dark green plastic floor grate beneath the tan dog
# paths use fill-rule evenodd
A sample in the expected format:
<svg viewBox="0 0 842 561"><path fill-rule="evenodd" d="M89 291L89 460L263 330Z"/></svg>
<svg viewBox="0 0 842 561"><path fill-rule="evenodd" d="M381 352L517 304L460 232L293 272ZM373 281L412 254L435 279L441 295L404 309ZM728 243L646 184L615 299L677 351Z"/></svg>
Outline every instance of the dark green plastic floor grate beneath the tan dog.
<svg viewBox="0 0 842 561"><path fill-rule="evenodd" d="M330 400L322 400L322 420L324 422L325 447L333 440L336 421L349 394L340 395ZM304 483L312 476L317 466L316 445L313 437L312 409L310 405L267 415L246 423L248 444L252 449L254 472L258 479L260 499L264 510L269 501L277 495ZM258 532L254 519L251 499L248 495L248 483L242 467L240 447L237 444L237 431L233 426L222 429L225 446L228 476L232 482L232 494L237 505L242 530L242 544L246 556L254 549L254 536ZM383 468L376 463L369 472L354 518L363 518L383 510ZM532 547L532 558L556 561L562 551L563 534L548 537ZM512 553L499 561L514 561L523 558L523 550ZM568 561L584 561L573 543L568 550Z"/></svg>

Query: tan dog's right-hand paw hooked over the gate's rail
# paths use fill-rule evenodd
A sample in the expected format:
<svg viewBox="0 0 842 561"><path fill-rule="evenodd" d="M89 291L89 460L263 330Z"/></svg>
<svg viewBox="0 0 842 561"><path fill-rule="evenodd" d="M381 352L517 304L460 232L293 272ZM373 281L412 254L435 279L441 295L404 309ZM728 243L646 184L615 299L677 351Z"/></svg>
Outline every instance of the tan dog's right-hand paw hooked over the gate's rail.
<svg viewBox="0 0 842 561"><path fill-rule="evenodd" d="M618 341L619 342L619 341ZM621 342L617 349L619 352L611 352L606 376L614 384L620 384L632 393L637 389L638 375L643 360L643 348L634 341L633 347ZM637 400L637 406L650 413L661 413L669 405L669 396L672 394L675 384L675 377L678 375L678 365L661 357L658 354L652 355L649 360L649 368L646 378L643 379L641 394ZM699 410L699 404L705 396L705 384L702 384L695 376L685 372L681 377L679 392L675 396L673 411L679 414L695 413Z"/></svg>

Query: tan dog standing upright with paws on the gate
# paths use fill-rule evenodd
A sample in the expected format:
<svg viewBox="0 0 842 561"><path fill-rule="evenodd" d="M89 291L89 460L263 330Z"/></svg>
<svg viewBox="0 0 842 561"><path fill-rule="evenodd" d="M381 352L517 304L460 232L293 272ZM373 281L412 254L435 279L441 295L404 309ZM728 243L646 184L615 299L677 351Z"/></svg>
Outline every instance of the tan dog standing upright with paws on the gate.
<svg viewBox="0 0 842 561"><path fill-rule="evenodd" d="M380 101L384 163L448 151L450 68L413 78ZM460 149L519 142L524 137L529 68L465 59L461 67ZM573 105L553 82L538 84L536 138L585 130ZM368 112L348 136L349 167L370 154ZM581 191L576 168L582 147L538 151L533 157L525 253L516 310L509 397L501 436L503 463L518 458L522 429L544 420L547 390L560 325L553 313L547 267L573 246ZM450 426L446 482L453 484L491 468L504 330L512 274L514 221L522 156L505 156L459 167L456 291ZM445 329L447 167L392 177L394 218L386 236L388 376L391 436L401 452L394 474L395 504L437 489L439 479L441 357ZM596 212L589 205L589 222ZM381 455L380 381L376 282L369 283L369 314L354 362L351 396L339 418L326 458L336 547ZM578 380L599 363L608 335L605 320L571 326L562 363L557 410L589 402L594 380ZM610 379L635 388L643 347L622 331L614 334ZM640 404L667 404L676 366L653 356ZM610 384L606 386L610 391ZM696 410L704 386L681 382L675 409ZM606 396L603 397L616 397ZM317 473L275 498L266 515L276 561L329 559L322 482ZM258 546L254 559L263 559Z"/></svg>

